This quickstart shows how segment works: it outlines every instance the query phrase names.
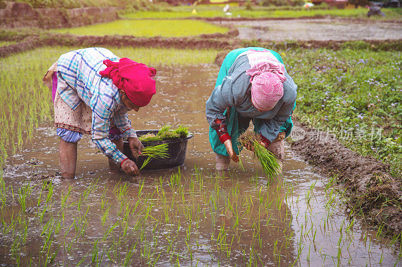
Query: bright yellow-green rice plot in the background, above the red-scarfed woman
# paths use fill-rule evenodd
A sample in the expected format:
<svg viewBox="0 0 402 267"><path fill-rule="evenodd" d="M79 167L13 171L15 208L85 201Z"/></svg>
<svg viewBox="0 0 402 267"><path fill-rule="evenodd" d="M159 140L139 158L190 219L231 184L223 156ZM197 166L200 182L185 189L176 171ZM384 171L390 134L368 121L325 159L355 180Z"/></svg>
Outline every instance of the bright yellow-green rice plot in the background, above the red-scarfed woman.
<svg viewBox="0 0 402 267"><path fill-rule="evenodd" d="M138 37L184 37L201 34L226 33L227 28L193 20L118 20L78 28L54 30L74 35L131 35Z"/></svg>

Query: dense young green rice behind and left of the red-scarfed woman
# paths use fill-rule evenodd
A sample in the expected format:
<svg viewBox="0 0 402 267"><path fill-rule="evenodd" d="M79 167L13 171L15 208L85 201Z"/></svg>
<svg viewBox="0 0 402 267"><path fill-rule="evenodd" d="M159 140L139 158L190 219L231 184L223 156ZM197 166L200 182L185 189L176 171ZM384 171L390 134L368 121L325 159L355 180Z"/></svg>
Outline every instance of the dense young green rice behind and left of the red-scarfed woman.
<svg viewBox="0 0 402 267"><path fill-rule="evenodd" d="M33 136L40 122L50 122L51 93L42 77L61 54L79 48L82 47L44 47L0 59L0 165ZM217 54L214 50L109 49L119 57L150 66L212 63Z"/></svg>

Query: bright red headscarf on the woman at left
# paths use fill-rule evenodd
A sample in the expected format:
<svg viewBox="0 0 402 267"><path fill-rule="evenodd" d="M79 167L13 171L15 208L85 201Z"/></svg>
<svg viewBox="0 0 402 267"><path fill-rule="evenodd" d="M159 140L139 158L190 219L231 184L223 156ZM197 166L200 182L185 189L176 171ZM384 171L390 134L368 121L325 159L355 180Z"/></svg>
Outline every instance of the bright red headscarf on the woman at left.
<svg viewBox="0 0 402 267"><path fill-rule="evenodd" d="M154 68L137 63L128 58L122 58L119 62L104 60L107 68L100 71L103 77L111 78L117 88L123 90L131 102L139 107L148 105L152 96L156 93Z"/></svg>

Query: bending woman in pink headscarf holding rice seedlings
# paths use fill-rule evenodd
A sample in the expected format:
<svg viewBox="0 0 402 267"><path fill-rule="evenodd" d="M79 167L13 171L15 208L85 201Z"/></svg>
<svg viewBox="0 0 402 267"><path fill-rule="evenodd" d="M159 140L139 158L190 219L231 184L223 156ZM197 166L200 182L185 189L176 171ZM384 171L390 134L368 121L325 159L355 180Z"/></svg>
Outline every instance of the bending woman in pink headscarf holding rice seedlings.
<svg viewBox="0 0 402 267"><path fill-rule="evenodd" d="M228 169L231 159L239 161L241 148L237 139L249 127L250 120L254 131L261 135L261 144L278 158L282 167L283 139L293 126L290 116L296 90L278 53L259 47L229 52L206 102L216 169Z"/></svg>

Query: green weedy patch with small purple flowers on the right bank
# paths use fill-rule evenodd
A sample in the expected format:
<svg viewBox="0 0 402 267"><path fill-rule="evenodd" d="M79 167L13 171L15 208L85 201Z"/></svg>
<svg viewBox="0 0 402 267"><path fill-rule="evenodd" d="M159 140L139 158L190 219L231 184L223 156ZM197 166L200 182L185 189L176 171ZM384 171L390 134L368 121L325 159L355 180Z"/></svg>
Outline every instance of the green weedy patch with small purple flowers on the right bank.
<svg viewBox="0 0 402 267"><path fill-rule="evenodd" d="M389 163L392 175L400 177L402 53L364 47L350 42L340 51L285 51L286 69L298 85L293 116L361 155Z"/></svg>

